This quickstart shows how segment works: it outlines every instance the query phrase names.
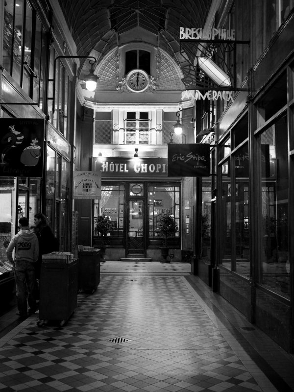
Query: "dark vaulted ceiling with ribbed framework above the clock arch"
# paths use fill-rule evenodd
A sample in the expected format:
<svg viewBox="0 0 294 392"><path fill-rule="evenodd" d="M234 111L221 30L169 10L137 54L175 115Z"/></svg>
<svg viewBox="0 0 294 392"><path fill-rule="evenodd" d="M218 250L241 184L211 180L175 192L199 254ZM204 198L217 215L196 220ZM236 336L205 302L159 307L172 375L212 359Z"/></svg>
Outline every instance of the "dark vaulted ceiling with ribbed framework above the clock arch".
<svg viewBox="0 0 294 392"><path fill-rule="evenodd" d="M77 54L99 59L119 47L125 33L140 27L183 67L193 62L196 46L179 42L179 27L204 27L212 0L58 0L72 32ZM145 37L142 37L144 41ZM187 49L185 51L185 49ZM185 55L183 56L183 50Z"/></svg>

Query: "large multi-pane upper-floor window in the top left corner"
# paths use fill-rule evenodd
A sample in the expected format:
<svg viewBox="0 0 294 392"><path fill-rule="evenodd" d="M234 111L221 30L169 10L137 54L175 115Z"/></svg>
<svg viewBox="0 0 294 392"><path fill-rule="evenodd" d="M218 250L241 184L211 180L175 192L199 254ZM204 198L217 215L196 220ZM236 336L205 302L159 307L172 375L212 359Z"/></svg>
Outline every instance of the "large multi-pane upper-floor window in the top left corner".
<svg viewBox="0 0 294 392"><path fill-rule="evenodd" d="M46 34L29 1L4 3L3 67L43 108Z"/></svg>

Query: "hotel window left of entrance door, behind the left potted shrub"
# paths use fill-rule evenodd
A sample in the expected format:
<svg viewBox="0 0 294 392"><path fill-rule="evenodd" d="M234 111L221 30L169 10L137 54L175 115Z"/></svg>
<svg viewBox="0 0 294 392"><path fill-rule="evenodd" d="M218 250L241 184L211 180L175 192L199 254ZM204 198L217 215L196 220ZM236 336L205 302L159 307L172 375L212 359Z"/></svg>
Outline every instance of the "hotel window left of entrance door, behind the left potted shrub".
<svg viewBox="0 0 294 392"><path fill-rule="evenodd" d="M93 233L95 233L95 221L99 215L109 216L115 222L115 231L112 236L123 237L124 217L124 183L105 184L101 187L101 198L94 200Z"/></svg>

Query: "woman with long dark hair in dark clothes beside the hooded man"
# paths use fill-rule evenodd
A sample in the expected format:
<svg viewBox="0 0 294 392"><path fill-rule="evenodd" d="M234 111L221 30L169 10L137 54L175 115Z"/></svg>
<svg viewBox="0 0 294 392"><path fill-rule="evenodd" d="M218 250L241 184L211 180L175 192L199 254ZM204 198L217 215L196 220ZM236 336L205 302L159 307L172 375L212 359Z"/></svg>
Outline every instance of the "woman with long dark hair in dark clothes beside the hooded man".
<svg viewBox="0 0 294 392"><path fill-rule="evenodd" d="M40 279L42 255L59 250L58 240L49 226L48 219L42 213L34 215L35 234L39 240L39 259L35 263L36 279Z"/></svg>

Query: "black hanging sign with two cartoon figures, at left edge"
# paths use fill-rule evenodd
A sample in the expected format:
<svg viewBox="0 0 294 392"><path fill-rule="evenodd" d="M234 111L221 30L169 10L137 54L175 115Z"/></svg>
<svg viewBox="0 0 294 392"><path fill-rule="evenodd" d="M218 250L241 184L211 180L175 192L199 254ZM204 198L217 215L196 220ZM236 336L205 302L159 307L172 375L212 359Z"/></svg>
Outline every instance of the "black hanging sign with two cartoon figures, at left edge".
<svg viewBox="0 0 294 392"><path fill-rule="evenodd" d="M44 119L0 119L0 176L42 177Z"/></svg>

